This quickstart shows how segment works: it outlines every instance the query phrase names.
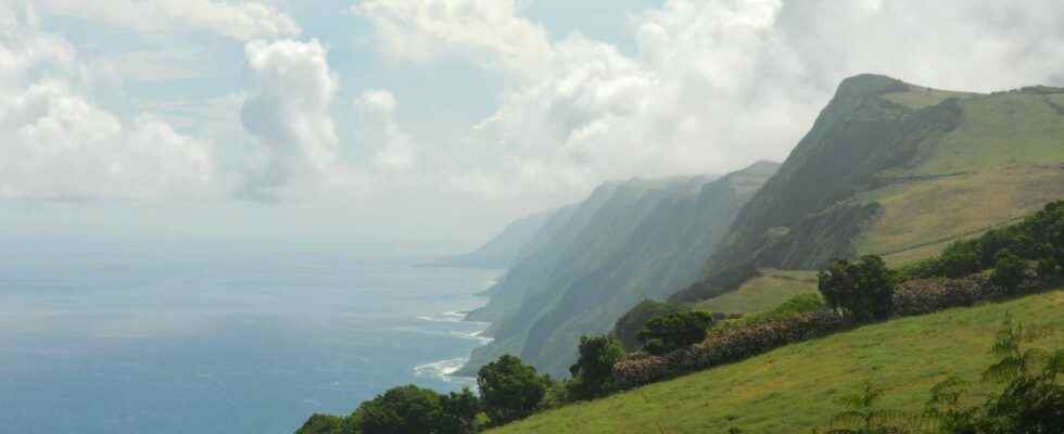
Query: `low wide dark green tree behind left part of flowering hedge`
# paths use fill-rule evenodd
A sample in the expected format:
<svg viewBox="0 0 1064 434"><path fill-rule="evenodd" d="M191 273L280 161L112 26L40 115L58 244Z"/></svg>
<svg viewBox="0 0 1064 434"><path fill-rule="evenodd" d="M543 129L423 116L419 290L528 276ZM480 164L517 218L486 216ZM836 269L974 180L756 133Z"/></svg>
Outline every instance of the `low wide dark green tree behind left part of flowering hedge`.
<svg viewBox="0 0 1064 434"><path fill-rule="evenodd" d="M639 331L643 349L653 355L663 355L688 347L706 340L706 330L713 324L713 316L700 310L686 310L654 318Z"/></svg>

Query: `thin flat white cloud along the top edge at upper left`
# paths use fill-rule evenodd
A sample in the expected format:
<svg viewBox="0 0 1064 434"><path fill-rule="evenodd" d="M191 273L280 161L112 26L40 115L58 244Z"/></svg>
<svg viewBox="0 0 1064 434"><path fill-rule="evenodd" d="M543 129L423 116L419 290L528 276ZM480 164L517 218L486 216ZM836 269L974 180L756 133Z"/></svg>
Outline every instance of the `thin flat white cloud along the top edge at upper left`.
<svg viewBox="0 0 1064 434"><path fill-rule="evenodd" d="M142 33L206 30L239 40L282 38L299 24L259 2L215 0L36 0L51 13L109 23Z"/></svg>

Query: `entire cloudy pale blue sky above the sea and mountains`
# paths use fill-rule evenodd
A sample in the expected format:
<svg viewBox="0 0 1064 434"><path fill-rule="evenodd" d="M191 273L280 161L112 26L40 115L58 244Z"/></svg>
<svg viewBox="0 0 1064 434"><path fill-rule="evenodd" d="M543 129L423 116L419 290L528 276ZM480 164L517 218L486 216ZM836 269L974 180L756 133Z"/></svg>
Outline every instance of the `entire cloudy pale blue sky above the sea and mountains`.
<svg viewBox="0 0 1064 434"><path fill-rule="evenodd" d="M0 0L0 238L470 248L783 161L861 73L1064 86L1064 2Z"/></svg>

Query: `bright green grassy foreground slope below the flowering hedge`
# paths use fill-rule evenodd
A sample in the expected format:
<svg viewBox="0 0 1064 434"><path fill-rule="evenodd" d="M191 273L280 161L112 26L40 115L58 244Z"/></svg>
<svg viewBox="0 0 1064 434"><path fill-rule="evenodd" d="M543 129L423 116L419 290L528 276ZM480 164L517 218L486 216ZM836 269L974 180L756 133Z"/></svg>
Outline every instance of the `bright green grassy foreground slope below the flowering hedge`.
<svg viewBox="0 0 1064 434"><path fill-rule="evenodd" d="M978 380L1008 315L1027 327L1055 330L1033 345L1064 347L1064 292L1056 291L864 327L492 432L808 432L824 426L843 410L838 399L870 379L886 388L884 405L919 411L930 386L948 374Z"/></svg>

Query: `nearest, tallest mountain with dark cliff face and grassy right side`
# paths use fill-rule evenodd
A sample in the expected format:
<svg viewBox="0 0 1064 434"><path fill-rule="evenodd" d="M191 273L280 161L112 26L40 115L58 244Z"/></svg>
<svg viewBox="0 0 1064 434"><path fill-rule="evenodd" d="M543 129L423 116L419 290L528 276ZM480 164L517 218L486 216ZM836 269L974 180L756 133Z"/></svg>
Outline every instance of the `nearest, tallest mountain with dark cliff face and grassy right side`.
<svg viewBox="0 0 1064 434"><path fill-rule="evenodd" d="M740 212L706 278L674 299L719 295L761 267L926 257L937 252L928 244L1064 196L1062 101L1064 92L1044 87L977 94L875 75L844 80Z"/></svg>

